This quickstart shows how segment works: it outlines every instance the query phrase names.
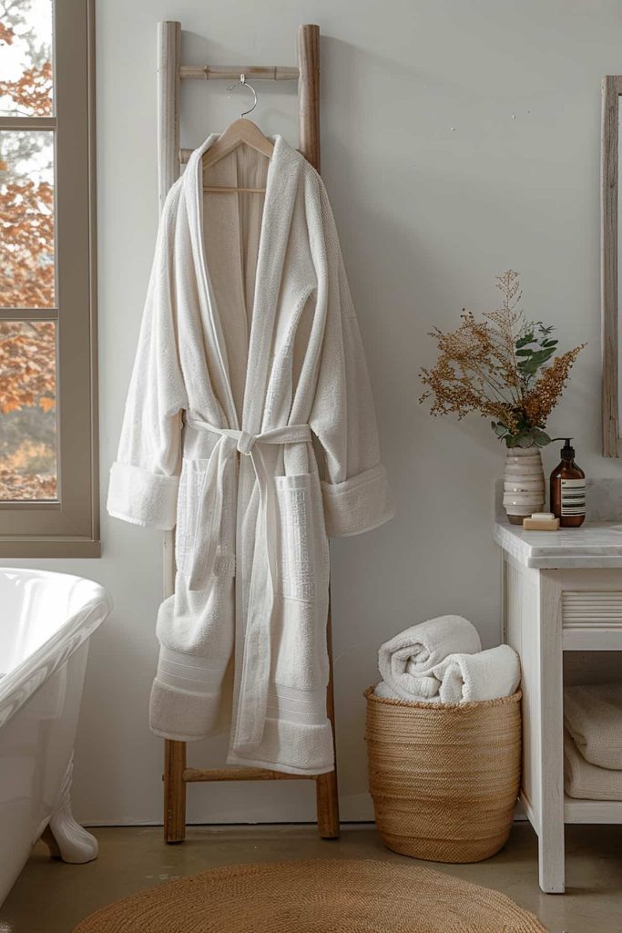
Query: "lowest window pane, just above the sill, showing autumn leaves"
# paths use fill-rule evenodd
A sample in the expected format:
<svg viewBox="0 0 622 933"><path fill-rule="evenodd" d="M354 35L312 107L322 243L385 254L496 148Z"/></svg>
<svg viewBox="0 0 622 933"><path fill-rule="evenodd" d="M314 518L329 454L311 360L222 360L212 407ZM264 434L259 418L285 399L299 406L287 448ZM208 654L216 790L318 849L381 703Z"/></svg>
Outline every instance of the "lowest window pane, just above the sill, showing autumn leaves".
<svg viewBox="0 0 622 933"><path fill-rule="evenodd" d="M0 321L0 499L56 497L56 326Z"/></svg>

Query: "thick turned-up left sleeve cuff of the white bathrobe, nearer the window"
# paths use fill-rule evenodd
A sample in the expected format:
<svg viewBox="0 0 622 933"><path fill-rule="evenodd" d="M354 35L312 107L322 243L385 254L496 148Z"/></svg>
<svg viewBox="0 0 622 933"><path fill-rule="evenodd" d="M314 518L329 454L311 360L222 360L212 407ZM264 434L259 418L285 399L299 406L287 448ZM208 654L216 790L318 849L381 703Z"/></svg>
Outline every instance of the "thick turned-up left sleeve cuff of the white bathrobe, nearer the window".
<svg viewBox="0 0 622 933"><path fill-rule="evenodd" d="M110 470L108 514L145 528L174 528L178 476L150 473L142 466L115 463Z"/></svg>

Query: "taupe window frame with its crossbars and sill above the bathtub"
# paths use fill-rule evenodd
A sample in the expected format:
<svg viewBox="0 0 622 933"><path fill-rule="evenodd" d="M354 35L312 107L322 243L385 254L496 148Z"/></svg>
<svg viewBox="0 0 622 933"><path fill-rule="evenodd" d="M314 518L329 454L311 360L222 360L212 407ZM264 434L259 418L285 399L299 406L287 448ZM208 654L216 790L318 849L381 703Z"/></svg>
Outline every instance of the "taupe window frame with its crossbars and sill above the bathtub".
<svg viewBox="0 0 622 933"><path fill-rule="evenodd" d="M54 321L58 499L0 502L0 558L99 557L94 0L55 0L53 117L0 117L0 130L55 136L56 308L0 308Z"/></svg>

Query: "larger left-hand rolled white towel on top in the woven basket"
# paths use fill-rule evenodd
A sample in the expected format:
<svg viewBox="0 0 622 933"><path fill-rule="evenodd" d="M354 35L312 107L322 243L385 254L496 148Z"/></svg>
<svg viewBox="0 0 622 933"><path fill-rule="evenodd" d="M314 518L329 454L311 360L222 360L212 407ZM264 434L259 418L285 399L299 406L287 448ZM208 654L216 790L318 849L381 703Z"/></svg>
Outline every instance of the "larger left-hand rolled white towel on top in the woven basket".
<svg viewBox="0 0 622 933"><path fill-rule="evenodd" d="M452 652L481 650L477 629L462 616L438 616L412 625L380 646L380 675L400 700L428 700L438 693L436 664Z"/></svg>

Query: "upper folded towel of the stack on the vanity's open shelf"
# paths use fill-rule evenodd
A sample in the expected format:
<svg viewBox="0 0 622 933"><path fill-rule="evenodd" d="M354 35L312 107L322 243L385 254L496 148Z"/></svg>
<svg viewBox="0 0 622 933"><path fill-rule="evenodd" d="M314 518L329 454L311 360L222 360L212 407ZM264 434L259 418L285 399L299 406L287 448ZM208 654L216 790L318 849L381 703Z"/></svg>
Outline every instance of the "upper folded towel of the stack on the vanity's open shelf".
<svg viewBox="0 0 622 933"><path fill-rule="evenodd" d="M622 684L567 687L563 720L586 761L622 770Z"/></svg>

